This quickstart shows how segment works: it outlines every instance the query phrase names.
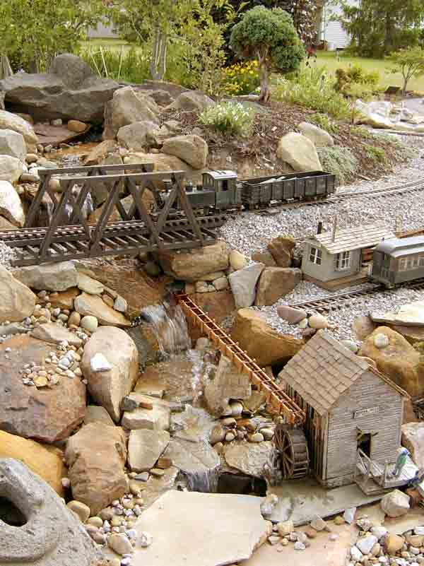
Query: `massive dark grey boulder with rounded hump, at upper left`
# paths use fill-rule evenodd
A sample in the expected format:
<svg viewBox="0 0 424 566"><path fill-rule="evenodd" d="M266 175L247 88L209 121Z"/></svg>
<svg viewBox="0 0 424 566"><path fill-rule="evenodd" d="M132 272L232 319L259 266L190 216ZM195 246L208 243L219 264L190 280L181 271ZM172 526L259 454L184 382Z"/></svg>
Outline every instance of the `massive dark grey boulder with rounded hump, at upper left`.
<svg viewBox="0 0 424 566"><path fill-rule="evenodd" d="M118 83L99 78L90 66L69 53L55 57L47 73L16 73L0 81L6 103L35 119L102 122L103 110Z"/></svg>

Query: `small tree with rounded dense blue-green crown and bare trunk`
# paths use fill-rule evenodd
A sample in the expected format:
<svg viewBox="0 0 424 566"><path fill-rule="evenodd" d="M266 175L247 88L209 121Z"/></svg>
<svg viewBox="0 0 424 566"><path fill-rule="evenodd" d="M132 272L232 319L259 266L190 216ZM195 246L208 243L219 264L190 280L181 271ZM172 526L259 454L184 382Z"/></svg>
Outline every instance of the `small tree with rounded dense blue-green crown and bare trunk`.
<svg viewBox="0 0 424 566"><path fill-rule="evenodd" d="M261 78L259 100L269 100L269 73L295 71L305 57L305 49L293 19L281 8L257 6L247 11L232 28L230 47L242 59L256 59Z"/></svg>

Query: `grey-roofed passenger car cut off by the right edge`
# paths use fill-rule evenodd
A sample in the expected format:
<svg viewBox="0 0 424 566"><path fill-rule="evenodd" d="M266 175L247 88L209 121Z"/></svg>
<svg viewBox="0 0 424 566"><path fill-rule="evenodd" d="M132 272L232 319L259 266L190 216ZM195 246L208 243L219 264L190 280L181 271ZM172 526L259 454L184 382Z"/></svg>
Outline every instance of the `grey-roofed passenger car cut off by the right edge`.
<svg viewBox="0 0 424 566"><path fill-rule="evenodd" d="M390 238L377 244L370 278L387 288L424 278L424 236Z"/></svg>

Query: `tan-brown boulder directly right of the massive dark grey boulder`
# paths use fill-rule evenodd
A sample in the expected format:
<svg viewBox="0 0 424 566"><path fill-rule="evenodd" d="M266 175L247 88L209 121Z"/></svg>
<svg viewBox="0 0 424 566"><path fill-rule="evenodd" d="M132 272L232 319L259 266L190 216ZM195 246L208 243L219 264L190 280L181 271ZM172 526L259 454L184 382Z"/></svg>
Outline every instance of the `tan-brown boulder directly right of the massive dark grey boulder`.
<svg viewBox="0 0 424 566"><path fill-rule="evenodd" d="M119 88L105 106L103 139L114 139L119 129L134 122L158 124L159 112L160 108L147 93L136 91L131 86Z"/></svg>

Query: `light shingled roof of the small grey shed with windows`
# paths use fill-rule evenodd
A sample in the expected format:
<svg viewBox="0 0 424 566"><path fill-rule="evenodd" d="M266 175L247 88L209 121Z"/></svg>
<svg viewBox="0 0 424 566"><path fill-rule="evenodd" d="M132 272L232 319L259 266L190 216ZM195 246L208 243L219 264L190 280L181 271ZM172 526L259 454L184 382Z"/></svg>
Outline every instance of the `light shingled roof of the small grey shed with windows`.
<svg viewBox="0 0 424 566"><path fill-rule="evenodd" d="M383 225L367 224L357 228L341 228L336 230L336 237L333 240L333 231L328 230L321 234L315 234L317 240L330 254L340 252L350 252L352 249L363 249L379 244L382 240L394 238L393 232Z"/></svg>

